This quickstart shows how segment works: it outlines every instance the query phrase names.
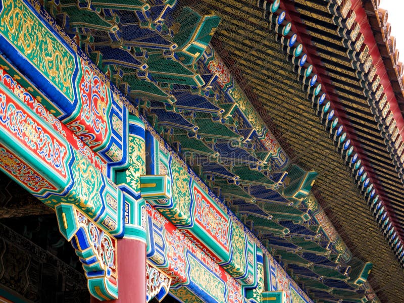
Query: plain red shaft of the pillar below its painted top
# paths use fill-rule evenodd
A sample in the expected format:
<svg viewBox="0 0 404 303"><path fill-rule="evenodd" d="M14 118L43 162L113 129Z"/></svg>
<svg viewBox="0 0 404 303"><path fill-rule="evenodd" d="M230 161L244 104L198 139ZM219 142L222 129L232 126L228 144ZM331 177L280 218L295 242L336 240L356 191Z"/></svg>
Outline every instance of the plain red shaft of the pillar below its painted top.
<svg viewBox="0 0 404 303"><path fill-rule="evenodd" d="M108 303L146 302L146 244L133 239L118 240L118 299ZM91 296L91 303L99 303Z"/></svg>

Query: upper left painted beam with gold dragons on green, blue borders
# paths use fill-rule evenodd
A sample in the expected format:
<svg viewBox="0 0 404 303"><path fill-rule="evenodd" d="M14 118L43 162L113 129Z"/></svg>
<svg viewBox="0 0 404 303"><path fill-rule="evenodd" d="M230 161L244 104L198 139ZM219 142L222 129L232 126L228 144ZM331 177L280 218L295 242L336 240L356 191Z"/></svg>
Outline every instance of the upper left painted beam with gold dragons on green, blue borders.
<svg viewBox="0 0 404 303"><path fill-rule="evenodd" d="M51 96L57 118L109 163L113 176L127 165L122 95L39 3L4 0L0 9L0 53Z"/></svg>

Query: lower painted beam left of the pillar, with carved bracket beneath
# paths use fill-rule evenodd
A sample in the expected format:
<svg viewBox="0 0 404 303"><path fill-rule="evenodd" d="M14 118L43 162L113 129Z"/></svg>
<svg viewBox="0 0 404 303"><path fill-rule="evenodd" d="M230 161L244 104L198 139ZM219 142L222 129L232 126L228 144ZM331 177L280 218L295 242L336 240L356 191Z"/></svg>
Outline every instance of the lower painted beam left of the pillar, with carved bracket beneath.
<svg viewBox="0 0 404 303"><path fill-rule="evenodd" d="M103 163L98 163L91 151L77 150L67 141L78 139L69 134L69 129L34 102L4 70L1 76L0 168L56 210L61 232L67 239L76 237L77 243L72 240L72 244L83 263L91 294L100 299L116 298L117 280L111 277L116 269L115 259L105 257L107 250L112 254L115 249L114 235L123 233L122 191L99 170ZM91 238L94 232L89 232L89 227L87 231L78 228L77 220L81 220L81 225L84 221L92 222L85 224L98 232L97 241L103 239L102 242ZM63 232L72 225L77 228ZM98 265L93 264L94 254L104 256L97 259Z"/></svg>

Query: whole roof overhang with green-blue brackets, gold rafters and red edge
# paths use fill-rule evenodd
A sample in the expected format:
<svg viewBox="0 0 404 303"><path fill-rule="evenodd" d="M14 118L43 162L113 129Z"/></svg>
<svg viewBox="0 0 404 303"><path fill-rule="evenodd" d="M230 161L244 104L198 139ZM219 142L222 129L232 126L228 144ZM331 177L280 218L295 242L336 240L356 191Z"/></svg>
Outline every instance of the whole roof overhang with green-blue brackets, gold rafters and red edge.
<svg viewBox="0 0 404 303"><path fill-rule="evenodd" d="M398 297L402 64L378 4L159 4L45 8L311 297L377 302L368 262Z"/></svg>

